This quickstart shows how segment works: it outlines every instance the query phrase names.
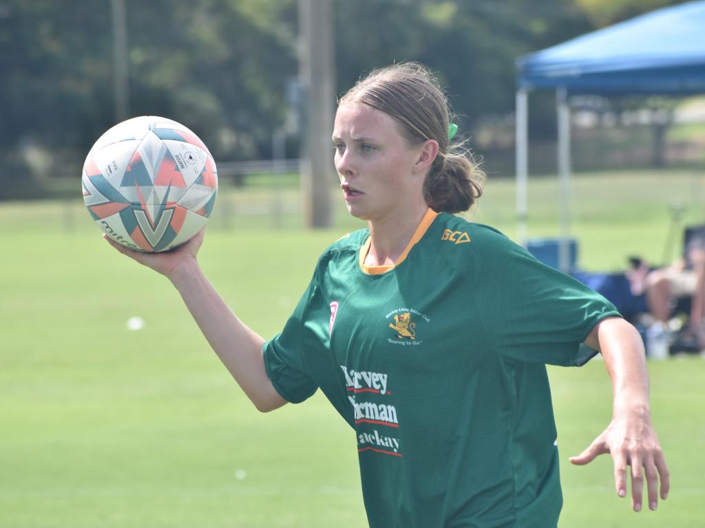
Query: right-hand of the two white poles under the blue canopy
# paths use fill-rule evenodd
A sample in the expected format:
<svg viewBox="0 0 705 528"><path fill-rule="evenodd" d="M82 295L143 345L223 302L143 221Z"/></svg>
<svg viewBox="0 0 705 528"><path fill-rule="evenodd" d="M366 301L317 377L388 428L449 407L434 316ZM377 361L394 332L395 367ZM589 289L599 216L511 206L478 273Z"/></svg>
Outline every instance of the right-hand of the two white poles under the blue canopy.
<svg viewBox="0 0 705 528"><path fill-rule="evenodd" d="M570 272L570 108L568 89L556 89L556 113L558 115L558 180L560 183L560 240L558 244L558 267Z"/></svg>

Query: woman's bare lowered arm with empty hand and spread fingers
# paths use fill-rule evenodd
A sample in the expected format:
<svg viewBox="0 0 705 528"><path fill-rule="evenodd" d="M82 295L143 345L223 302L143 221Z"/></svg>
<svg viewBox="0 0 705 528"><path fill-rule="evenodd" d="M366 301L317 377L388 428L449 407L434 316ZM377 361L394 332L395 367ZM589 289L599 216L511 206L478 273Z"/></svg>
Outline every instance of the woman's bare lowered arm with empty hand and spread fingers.
<svg viewBox="0 0 705 528"><path fill-rule="evenodd" d="M627 494L627 465L632 474L632 508L642 509L644 474L649 508L658 505L669 489L668 467L651 425L649 374L646 372L644 344L639 332L621 318L608 318L595 325L585 344L601 351L612 379L612 421L580 455L570 458L577 465L590 463L596 456L610 453L614 464L617 494Z"/></svg>

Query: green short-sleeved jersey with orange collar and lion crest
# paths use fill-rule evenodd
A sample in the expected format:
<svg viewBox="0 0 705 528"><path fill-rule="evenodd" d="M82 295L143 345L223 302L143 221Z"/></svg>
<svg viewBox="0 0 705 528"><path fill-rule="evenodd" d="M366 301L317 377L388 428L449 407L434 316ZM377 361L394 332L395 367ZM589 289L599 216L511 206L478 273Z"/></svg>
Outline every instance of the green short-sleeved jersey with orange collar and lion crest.
<svg viewBox="0 0 705 528"><path fill-rule="evenodd" d="M321 389L355 429L371 527L555 527L562 505L546 363L619 313L496 230L429 210L395 266L369 232L319 258L264 346L277 391Z"/></svg>

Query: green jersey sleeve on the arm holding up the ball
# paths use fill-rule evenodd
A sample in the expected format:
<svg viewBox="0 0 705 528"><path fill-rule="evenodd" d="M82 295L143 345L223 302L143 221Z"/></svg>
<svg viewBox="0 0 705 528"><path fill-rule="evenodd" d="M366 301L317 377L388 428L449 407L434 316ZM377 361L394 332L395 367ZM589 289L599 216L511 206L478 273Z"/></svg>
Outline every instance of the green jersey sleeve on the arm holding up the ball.
<svg viewBox="0 0 705 528"><path fill-rule="evenodd" d="M267 376L282 398L291 403L301 403L318 389L309 375L305 358L306 347L311 346L307 313L316 290L314 275L281 333L262 348Z"/></svg>

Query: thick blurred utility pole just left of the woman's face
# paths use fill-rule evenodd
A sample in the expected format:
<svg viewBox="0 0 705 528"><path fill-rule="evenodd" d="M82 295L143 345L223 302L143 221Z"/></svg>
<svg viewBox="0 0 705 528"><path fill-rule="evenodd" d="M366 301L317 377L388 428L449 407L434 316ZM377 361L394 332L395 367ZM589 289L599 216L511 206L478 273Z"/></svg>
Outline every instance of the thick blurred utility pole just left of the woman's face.
<svg viewBox="0 0 705 528"><path fill-rule="evenodd" d="M299 77L302 92L301 179L307 227L331 227L331 149L335 68L331 0L299 0Z"/></svg>

